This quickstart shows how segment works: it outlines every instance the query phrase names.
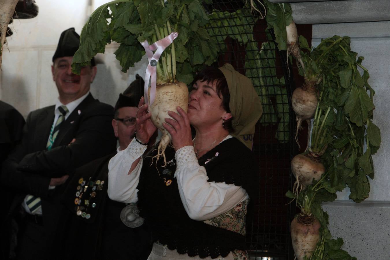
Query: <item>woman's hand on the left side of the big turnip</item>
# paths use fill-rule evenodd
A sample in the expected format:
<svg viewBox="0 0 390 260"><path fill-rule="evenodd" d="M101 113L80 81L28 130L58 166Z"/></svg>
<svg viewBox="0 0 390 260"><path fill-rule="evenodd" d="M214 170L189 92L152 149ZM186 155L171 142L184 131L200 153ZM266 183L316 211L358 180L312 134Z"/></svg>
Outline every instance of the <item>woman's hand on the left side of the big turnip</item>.
<svg viewBox="0 0 390 260"><path fill-rule="evenodd" d="M141 97L138 103L137 119L135 123L135 136L142 143L148 143L151 136L156 132L157 127L154 126L151 113L147 112L147 104L145 104L144 97Z"/></svg>

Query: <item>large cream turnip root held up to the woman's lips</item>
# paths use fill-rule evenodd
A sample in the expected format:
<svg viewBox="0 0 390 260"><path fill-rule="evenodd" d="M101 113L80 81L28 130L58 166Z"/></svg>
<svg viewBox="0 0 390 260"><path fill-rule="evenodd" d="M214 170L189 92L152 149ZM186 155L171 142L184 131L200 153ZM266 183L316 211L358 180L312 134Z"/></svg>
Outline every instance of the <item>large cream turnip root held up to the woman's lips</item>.
<svg viewBox="0 0 390 260"><path fill-rule="evenodd" d="M148 97L150 100L150 88L148 89ZM171 136L167 129L163 127L165 118L172 118L168 115L168 110L175 111L176 107L180 106L187 113L188 108L188 88L183 82L175 81L174 83L166 83L156 86L156 97L154 102L149 106L149 111L152 113L151 120L153 124L163 133L160 144L158 145L157 161L160 156L164 158L163 167L167 165L165 159L165 149L170 143Z"/></svg>

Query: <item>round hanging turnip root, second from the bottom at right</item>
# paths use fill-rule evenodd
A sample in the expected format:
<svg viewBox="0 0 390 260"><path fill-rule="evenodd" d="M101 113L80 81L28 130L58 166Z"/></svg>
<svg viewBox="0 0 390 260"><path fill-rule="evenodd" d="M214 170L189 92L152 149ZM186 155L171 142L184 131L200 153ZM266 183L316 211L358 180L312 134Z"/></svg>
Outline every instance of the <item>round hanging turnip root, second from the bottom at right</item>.
<svg viewBox="0 0 390 260"><path fill-rule="evenodd" d="M309 152L308 154L294 156L291 160L291 170L296 178L293 192L298 193L301 189L305 189L312 184L313 178L314 180L321 179L325 172L325 167L321 163L319 155Z"/></svg>

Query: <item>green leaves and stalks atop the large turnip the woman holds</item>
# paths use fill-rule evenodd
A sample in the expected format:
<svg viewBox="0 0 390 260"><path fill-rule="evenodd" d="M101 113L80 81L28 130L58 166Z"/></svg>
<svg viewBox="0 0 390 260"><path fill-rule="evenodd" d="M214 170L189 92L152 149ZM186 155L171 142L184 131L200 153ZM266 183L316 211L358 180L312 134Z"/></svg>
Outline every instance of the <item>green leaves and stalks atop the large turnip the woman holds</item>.
<svg viewBox="0 0 390 260"><path fill-rule="evenodd" d="M157 80L176 78L189 84L204 64L211 65L216 60L220 51L207 26L209 15L199 0L112 1L98 7L83 27L72 68L80 73L92 57L104 53L106 44L115 41L120 44L115 57L126 72L145 55L140 42L147 40L152 44L170 32L178 32L179 36L158 61Z"/></svg>

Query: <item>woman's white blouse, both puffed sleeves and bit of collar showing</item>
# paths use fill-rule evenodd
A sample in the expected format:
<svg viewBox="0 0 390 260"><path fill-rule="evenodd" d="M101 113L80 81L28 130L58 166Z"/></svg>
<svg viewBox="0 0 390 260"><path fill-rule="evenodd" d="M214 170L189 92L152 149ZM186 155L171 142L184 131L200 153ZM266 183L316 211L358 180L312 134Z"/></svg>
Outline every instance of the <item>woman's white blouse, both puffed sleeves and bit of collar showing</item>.
<svg viewBox="0 0 390 260"><path fill-rule="evenodd" d="M232 136L228 135L225 141ZM138 201L137 186L142 168L142 154L146 145L133 139L129 146L118 152L108 163L108 196L124 203ZM141 157L128 175L131 164ZM249 198L245 189L225 182L208 182L206 169L200 166L192 146L182 147L175 154L179 194L188 216L194 220L207 220L232 209Z"/></svg>

